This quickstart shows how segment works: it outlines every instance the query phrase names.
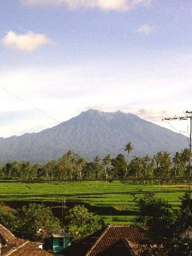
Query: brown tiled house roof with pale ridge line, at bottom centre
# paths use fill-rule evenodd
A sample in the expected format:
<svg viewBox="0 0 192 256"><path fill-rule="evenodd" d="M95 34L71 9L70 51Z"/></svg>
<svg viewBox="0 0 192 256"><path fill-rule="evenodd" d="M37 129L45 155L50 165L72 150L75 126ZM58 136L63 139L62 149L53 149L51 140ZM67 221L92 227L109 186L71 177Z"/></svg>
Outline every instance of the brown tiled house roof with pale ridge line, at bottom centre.
<svg viewBox="0 0 192 256"><path fill-rule="evenodd" d="M133 256L140 253L139 240L144 241L146 235L147 231L138 226L108 225L73 243L62 253L65 256Z"/></svg>

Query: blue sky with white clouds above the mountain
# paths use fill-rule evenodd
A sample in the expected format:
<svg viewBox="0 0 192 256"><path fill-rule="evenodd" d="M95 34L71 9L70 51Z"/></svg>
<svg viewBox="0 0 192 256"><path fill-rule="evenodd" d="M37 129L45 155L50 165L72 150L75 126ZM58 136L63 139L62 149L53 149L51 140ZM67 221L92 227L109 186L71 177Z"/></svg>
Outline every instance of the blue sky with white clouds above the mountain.
<svg viewBox="0 0 192 256"><path fill-rule="evenodd" d="M0 137L89 108L188 136L191 0L1 0Z"/></svg>

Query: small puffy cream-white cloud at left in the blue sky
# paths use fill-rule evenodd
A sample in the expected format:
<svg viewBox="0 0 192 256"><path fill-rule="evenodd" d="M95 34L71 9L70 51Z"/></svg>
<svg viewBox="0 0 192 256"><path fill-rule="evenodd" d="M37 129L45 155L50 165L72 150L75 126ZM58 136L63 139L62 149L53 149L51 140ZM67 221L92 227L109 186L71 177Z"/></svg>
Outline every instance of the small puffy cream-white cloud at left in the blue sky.
<svg viewBox="0 0 192 256"><path fill-rule="evenodd" d="M24 52L32 52L48 43L50 43L50 40L45 34L35 34L31 31L26 34L17 34L14 31L9 31L2 39L4 46Z"/></svg>

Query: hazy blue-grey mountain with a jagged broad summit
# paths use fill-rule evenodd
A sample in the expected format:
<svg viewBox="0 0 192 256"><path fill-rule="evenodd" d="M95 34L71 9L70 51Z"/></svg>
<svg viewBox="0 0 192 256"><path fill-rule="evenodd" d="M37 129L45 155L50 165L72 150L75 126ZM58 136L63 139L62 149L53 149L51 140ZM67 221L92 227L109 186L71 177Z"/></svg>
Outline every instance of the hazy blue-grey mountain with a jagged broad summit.
<svg viewBox="0 0 192 256"><path fill-rule="evenodd" d="M131 142L132 155L171 154L187 147L187 137L143 120L131 113L87 110L66 122L38 133L0 138L0 162L46 162L71 150L92 160L123 153Z"/></svg>

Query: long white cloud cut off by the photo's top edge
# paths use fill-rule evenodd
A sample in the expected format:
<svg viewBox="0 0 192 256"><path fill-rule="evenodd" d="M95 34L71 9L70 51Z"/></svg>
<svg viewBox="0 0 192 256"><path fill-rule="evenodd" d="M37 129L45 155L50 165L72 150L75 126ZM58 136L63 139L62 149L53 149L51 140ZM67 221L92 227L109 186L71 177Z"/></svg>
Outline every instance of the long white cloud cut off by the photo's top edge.
<svg viewBox="0 0 192 256"><path fill-rule="evenodd" d="M100 8L129 11L139 6L150 7L153 0L19 0L26 6L67 5L69 8Z"/></svg>

